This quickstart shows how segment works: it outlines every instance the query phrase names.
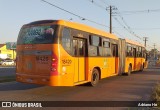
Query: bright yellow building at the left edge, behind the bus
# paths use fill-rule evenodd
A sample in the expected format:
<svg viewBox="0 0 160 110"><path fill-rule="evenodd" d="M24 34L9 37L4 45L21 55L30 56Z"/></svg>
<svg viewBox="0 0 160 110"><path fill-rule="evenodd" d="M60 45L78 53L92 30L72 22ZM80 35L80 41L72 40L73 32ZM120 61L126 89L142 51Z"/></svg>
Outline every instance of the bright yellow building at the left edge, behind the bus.
<svg viewBox="0 0 160 110"><path fill-rule="evenodd" d="M16 59L16 50L6 48L6 44L0 44L0 59Z"/></svg>

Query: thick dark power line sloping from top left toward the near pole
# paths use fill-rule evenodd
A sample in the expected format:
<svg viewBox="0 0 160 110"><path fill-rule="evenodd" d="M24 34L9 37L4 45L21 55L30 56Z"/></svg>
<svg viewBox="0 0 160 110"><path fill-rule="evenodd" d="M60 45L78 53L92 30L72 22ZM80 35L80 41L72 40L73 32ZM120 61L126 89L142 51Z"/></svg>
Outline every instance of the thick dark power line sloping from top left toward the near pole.
<svg viewBox="0 0 160 110"><path fill-rule="evenodd" d="M73 12L70 12L70 11L68 11L68 10L65 10L65 9L63 9L63 8L57 6L57 5L54 5L54 4L52 4L52 3L50 3L50 2L48 2L48 1L46 1L46 0L41 0L41 1L47 3L47 4L51 5L51 6L53 6L53 7L55 7L55 8L58 8L58 9L64 11L64 12L67 12L67 13L73 15L73 16L76 16L76 17L80 18L81 20L87 20L87 21L92 22L92 23L95 23L95 24L97 24L97 25L101 25L101 26L103 26L103 27L108 27L108 26L106 26L106 25L104 25L104 24L97 23L97 22L95 22L95 21L93 21L93 20L84 18L84 17L82 17L82 16L80 16L80 15L78 15L78 14L75 14L75 13L73 13Z"/></svg>

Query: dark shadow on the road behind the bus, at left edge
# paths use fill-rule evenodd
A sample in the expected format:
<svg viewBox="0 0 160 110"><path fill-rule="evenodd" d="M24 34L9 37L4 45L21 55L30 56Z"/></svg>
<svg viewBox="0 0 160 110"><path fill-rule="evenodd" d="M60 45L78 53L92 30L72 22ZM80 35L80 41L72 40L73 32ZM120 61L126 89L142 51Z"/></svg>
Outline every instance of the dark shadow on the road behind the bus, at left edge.
<svg viewBox="0 0 160 110"><path fill-rule="evenodd" d="M29 90L43 87L42 85L25 84L19 82L0 83L0 91Z"/></svg>

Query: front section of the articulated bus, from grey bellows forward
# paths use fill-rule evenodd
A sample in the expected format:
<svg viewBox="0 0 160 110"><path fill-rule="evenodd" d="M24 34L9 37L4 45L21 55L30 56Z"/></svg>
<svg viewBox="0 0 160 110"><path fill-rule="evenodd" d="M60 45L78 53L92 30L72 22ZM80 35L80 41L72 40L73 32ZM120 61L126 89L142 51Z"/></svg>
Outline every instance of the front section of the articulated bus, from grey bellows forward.
<svg viewBox="0 0 160 110"><path fill-rule="evenodd" d="M120 39L120 73L130 75L133 71L143 71L147 68L147 55L145 47L137 42Z"/></svg>

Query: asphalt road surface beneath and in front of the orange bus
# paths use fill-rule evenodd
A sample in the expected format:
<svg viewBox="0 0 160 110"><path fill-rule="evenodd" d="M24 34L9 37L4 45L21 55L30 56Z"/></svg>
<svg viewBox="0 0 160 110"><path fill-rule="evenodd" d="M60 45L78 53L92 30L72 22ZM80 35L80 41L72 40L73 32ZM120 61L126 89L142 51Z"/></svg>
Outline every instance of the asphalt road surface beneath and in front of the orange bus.
<svg viewBox="0 0 160 110"><path fill-rule="evenodd" d="M0 100L10 101L148 101L160 69L101 80L96 87L50 87L19 82L0 84Z"/></svg>

